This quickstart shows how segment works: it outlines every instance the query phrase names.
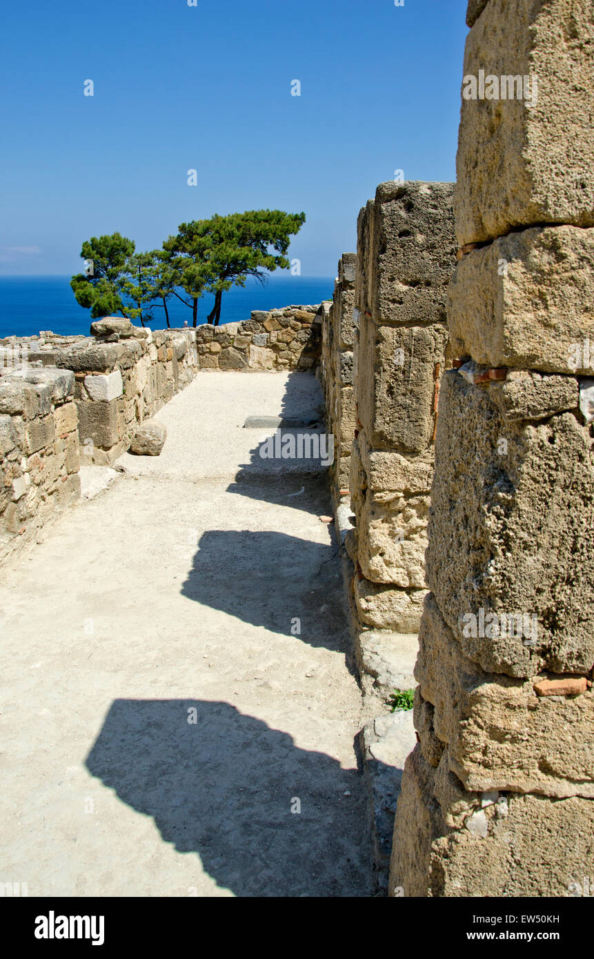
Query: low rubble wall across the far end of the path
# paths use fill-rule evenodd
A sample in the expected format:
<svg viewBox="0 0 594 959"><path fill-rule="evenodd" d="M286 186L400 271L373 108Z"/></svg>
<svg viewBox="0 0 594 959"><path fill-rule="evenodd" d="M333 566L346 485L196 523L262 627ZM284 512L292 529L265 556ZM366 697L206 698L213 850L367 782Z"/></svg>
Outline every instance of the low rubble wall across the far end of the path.
<svg viewBox="0 0 594 959"><path fill-rule="evenodd" d="M196 329L203 369L312 369L321 355L321 305L254 310L241 323Z"/></svg>

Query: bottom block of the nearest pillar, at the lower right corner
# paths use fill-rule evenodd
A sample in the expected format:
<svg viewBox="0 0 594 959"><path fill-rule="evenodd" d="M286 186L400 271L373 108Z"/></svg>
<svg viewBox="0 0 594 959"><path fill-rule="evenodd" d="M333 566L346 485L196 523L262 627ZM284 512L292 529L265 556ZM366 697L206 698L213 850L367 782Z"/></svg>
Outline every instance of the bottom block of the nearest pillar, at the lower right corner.
<svg viewBox="0 0 594 959"><path fill-rule="evenodd" d="M490 0L492 3L493 0ZM566 897L594 869L594 803L510 794L480 808L420 748L406 760L394 821L390 892L415 897ZM507 798L507 802L505 799ZM471 831L482 813L485 838ZM559 840L562 837L562 852Z"/></svg>

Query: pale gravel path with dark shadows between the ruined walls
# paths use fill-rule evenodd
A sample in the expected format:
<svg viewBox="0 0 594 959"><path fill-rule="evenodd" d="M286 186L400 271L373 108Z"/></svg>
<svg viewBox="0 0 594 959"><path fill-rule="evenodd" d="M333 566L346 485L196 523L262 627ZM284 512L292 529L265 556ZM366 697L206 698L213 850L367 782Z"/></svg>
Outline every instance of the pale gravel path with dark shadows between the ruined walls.
<svg viewBox="0 0 594 959"><path fill-rule="evenodd" d="M320 404L307 373L201 373L156 416L161 456L122 456L2 570L0 881L369 895L323 470L242 428Z"/></svg>

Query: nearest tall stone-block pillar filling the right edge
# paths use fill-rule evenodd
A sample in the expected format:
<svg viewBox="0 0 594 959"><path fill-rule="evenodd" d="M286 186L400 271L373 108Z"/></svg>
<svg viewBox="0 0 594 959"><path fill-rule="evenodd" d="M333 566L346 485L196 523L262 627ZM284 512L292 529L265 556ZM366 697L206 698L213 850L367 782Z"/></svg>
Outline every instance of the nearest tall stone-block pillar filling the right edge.
<svg viewBox="0 0 594 959"><path fill-rule="evenodd" d="M391 886L565 897L594 874L594 8L475 0L468 23L464 75L537 74L538 100L463 99Z"/></svg>

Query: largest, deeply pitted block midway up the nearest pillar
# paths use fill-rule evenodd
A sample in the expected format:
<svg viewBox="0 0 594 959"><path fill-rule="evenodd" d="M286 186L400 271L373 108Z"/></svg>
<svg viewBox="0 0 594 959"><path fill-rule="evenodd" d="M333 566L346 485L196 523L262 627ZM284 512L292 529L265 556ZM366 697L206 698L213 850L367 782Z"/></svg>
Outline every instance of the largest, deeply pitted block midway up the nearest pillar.
<svg viewBox="0 0 594 959"><path fill-rule="evenodd" d="M440 394L427 584L463 652L487 671L586 673L594 663L594 462L573 412L510 422L488 387L446 373ZM471 635L493 613L537 636ZM475 619L475 625L478 620ZM531 620L532 621L532 620ZM485 629L483 630L485 633Z"/></svg>

